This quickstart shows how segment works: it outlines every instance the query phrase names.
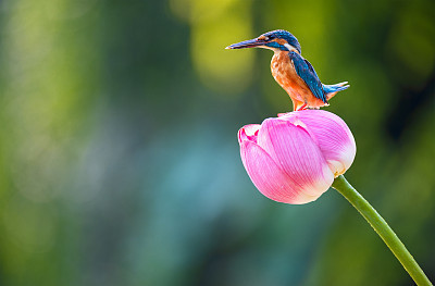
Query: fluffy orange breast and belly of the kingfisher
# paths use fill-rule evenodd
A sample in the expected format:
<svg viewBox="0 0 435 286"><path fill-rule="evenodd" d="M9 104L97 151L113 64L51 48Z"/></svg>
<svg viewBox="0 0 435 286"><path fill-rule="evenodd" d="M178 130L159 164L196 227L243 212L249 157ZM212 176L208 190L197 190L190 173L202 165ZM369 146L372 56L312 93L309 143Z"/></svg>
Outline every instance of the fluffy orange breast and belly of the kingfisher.
<svg viewBox="0 0 435 286"><path fill-rule="evenodd" d="M307 103L310 108L325 105L315 98L307 84L301 79L288 57L287 51L276 51L271 62L272 75L275 80L287 91L295 105Z"/></svg>

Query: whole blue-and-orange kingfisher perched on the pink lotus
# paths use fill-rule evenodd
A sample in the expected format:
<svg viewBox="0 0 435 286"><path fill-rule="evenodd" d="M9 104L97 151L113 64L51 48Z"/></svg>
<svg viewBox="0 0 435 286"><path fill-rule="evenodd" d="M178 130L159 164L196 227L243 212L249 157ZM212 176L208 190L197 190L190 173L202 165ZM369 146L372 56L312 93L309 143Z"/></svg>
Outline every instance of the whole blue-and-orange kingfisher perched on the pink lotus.
<svg viewBox="0 0 435 286"><path fill-rule="evenodd" d="M328 100L349 87L348 82L324 85L314 67L301 55L300 43L291 33L276 29L257 38L240 41L226 49L263 48L274 52L271 61L272 75L287 91L294 111L327 107Z"/></svg>

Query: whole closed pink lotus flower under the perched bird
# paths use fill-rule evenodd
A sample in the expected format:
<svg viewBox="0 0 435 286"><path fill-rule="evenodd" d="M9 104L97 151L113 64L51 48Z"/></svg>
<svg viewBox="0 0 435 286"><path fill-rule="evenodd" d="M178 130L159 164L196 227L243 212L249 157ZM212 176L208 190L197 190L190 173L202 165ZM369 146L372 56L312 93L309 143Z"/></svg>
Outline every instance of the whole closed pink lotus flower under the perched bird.
<svg viewBox="0 0 435 286"><path fill-rule="evenodd" d="M316 200L352 164L357 147L346 123L323 110L302 110L238 132L241 161L256 187L286 203Z"/></svg>

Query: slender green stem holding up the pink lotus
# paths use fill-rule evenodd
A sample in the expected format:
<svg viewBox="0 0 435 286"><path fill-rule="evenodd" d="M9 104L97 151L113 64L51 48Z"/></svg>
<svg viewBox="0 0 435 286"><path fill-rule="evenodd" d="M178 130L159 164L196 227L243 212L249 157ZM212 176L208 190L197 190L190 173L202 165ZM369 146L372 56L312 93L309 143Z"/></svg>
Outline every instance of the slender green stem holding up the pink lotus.
<svg viewBox="0 0 435 286"><path fill-rule="evenodd" d="M333 188L338 190L370 223L374 231L381 236L391 252L403 265L417 285L432 285L423 270L409 253L408 249L400 241L391 227L376 212L375 209L346 181L341 175L335 178Z"/></svg>

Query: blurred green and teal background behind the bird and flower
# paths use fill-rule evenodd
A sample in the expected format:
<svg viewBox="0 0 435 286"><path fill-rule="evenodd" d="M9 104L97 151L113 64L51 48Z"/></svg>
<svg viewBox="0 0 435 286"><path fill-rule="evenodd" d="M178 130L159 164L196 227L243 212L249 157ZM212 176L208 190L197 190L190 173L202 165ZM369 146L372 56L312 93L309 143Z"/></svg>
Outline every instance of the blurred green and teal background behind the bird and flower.
<svg viewBox="0 0 435 286"><path fill-rule="evenodd" d="M0 285L412 285L335 190L261 196L236 133L290 110L284 28L352 129L347 178L435 281L435 2L0 1Z"/></svg>

